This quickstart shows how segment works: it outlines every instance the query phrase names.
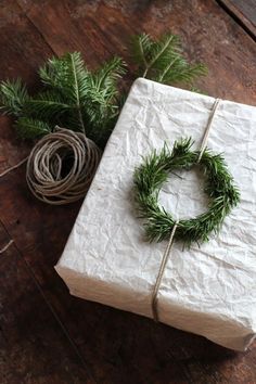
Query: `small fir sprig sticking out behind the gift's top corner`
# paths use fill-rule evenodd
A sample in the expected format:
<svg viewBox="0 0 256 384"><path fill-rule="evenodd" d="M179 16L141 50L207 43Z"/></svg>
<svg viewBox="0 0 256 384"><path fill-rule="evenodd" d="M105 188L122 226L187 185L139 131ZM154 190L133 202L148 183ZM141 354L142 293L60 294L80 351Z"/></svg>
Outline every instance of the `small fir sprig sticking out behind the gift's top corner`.
<svg viewBox="0 0 256 384"><path fill-rule="evenodd" d="M142 34L132 39L132 57L139 75L164 84L192 84L206 75L204 64L189 64L182 55L178 36L167 34L157 41Z"/></svg>

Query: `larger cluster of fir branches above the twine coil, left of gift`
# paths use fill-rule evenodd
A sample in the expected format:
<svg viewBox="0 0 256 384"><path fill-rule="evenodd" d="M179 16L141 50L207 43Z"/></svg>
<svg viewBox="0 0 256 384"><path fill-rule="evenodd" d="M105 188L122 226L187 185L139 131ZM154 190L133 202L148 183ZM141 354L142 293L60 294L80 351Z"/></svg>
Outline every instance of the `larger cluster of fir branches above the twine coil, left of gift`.
<svg viewBox="0 0 256 384"><path fill-rule="evenodd" d="M117 82L125 67L121 59L114 57L89 72L79 52L52 57L39 68L43 89L34 97L21 79L2 81L1 108L16 117L24 139L36 139L60 125L82 131L104 146L118 115Z"/></svg>

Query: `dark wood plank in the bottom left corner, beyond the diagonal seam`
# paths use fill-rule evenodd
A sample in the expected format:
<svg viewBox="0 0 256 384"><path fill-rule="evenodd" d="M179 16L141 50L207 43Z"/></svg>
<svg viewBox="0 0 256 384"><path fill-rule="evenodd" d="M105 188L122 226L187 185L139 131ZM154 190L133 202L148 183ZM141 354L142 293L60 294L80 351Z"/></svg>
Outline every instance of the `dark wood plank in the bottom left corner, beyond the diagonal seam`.
<svg viewBox="0 0 256 384"><path fill-rule="evenodd" d="M0 286L1 384L92 383L15 245L1 254Z"/></svg>

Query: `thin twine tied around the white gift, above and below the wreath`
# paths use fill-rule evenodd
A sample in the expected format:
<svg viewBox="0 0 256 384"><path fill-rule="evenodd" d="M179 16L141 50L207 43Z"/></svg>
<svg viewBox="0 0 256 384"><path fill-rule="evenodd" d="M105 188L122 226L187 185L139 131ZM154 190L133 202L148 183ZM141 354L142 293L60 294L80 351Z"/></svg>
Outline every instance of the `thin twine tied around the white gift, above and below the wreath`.
<svg viewBox="0 0 256 384"><path fill-rule="evenodd" d="M207 140L208 140L208 137L209 137L209 130L210 130L210 127L213 125L214 116L215 116L215 113L216 113L216 111L218 108L219 103L220 103L220 99L216 99L215 102L214 102L214 105L213 105L213 108L212 108L212 113L210 113L210 116L208 118L207 126L205 128L204 137L203 137L203 140L202 140L202 144L201 144L201 148L200 148L200 155L199 155L199 158L197 158L197 163L201 162L202 155L203 155L203 153L204 153L204 151L206 149ZM170 238L169 238L167 247L165 249L165 253L164 253L164 256L163 256L163 259L162 259L162 263L161 263L159 271L158 271L158 274L157 274L157 278L156 278L156 282L155 282L155 285L154 285L154 290L153 290L153 294L152 294L151 307L152 307L153 319L156 322L158 322L158 310L157 310L158 292L159 292L161 282L162 282L162 279L163 279L164 272L165 272L165 267L167 265L168 257L169 257L169 254L170 254L170 251L171 251L171 246L174 244L175 232L177 230L178 223L179 223L179 221L176 221L176 223L174 225L172 230L170 232Z"/></svg>

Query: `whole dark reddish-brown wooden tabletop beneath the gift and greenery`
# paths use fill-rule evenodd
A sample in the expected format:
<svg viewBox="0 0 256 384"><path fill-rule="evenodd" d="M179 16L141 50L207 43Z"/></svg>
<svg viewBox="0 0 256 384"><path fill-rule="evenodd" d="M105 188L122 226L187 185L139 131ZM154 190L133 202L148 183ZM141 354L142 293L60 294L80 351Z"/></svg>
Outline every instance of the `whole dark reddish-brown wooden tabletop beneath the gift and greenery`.
<svg viewBox="0 0 256 384"><path fill-rule="evenodd" d="M201 89L256 105L256 4L244 3L1 0L0 77L21 76L33 89L47 57L75 50L90 67L114 54L129 63L131 34L172 30L187 56L209 68ZM0 125L2 171L29 145L15 138L10 118L1 116ZM0 179L0 248L14 240L0 255L0 383L256 383L256 343L236 354L68 294L53 266L80 204L51 207L36 201L25 166Z"/></svg>

